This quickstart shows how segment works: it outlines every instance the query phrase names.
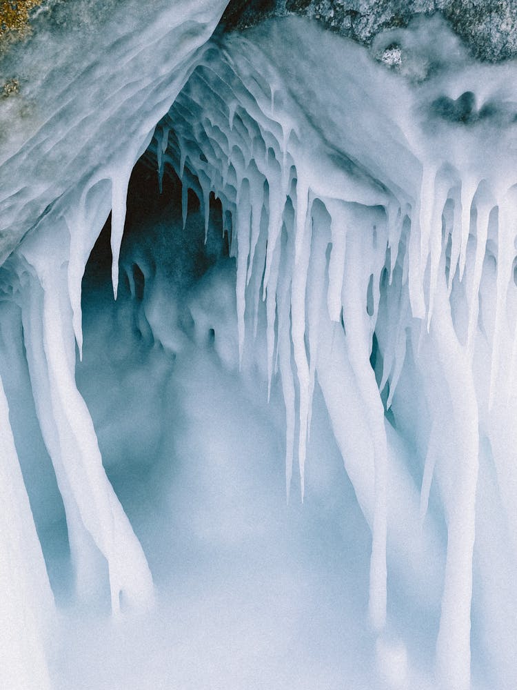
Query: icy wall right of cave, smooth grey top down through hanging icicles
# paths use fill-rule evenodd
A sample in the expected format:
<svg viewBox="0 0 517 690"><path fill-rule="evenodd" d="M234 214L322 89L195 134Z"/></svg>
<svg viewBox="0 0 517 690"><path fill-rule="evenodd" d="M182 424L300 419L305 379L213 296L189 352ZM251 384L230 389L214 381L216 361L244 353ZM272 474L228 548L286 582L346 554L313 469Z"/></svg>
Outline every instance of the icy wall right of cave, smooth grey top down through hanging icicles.
<svg viewBox="0 0 517 690"><path fill-rule="evenodd" d="M228 39L219 55L207 51L157 130L159 174L168 161L205 209L210 193L221 199L241 353L265 302L267 378L280 375L286 406L288 496L297 457L303 497L314 381L321 386L372 529L378 630L387 541L406 576L418 578L413 558L440 581L434 538L420 531L433 531L437 482L447 524L437 681L467 688L480 444L491 447L484 461L500 477L501 509L510 521L514 513L503 488L511 446L501 442L514 414L513 66L471 67L445 34L455 50L446 66L417 25L396 37L412 55L407 83L323 32L303 41L302 57L303 30L278 22ZM399 393L408 376L414 388L405 382ZM506 401L499 411L496 400ZM393 435L414 447L412 468L394 461ZM478 537L480 562L486 547ZM487 622L498 615L476 606ZM496 663L510 678L507 662Z"/></svg>

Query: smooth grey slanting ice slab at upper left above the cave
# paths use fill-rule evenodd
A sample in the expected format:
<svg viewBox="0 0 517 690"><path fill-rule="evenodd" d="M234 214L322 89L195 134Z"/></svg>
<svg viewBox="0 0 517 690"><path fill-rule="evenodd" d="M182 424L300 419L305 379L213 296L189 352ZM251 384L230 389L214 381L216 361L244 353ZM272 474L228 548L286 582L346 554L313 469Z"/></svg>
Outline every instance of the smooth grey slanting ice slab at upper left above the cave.
<svg viewBox="0 0 517 690"><path fill-rule="evenodd" d="M0 99L0 261L56 199L92 177L116 186L132 168L224 8L115 3L88 26L39 30L3 57L20 92Z"/></svg>

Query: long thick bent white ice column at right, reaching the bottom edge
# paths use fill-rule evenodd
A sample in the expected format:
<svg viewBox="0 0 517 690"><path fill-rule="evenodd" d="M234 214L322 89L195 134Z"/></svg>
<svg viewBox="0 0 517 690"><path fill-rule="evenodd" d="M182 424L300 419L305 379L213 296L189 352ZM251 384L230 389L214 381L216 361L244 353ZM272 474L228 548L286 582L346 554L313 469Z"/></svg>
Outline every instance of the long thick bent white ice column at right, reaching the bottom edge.
<svg viewBox="0 0 517 690"><path fill-rule="evenodd" d="M450 312L442 262L436 289L431 329L443 380L452 404L456 434L454 474L443 500L447 514L447 559L436 642L436 667L440 687L468 690L470 687L470 627L472 600L472 555L476 522L478 477L478 406L472 370L460 347Z"/></svg>

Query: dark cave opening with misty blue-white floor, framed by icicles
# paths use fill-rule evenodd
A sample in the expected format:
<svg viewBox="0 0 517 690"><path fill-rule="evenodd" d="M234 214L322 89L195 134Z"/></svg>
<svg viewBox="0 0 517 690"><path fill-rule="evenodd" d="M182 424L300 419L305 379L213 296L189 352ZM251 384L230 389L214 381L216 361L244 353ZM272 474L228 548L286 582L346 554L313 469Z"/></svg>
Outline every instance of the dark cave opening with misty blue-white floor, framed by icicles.
<svg viewBox="0 0 517 690"><path fill-rule="evenodd" d="M367 578L369 531L318 394L310 489L301 506L295 473L286 504L285 411L278 383L267 402L260 361L265 318L250 345L256 357L239 372L236 266L213 197L209 220L205 242L196 195L183 228L178 177L166 168L160 193L152 152L136 164L116 301L109 219L86 266L77 384L168 621L148 634L159 647L181 637L190 650L183 660L162 652L168 677L192 678L192 649L211 683L244 684L257 654L266 673L294 678L303 667L321 677L317 631L330 626L325 635L362 653L354 627L343 639L342 620L343 611L360 618L349 592ZM140 631L129 634L145 646ZM328 673L333 687L345 671L334 663Z"/></svg>

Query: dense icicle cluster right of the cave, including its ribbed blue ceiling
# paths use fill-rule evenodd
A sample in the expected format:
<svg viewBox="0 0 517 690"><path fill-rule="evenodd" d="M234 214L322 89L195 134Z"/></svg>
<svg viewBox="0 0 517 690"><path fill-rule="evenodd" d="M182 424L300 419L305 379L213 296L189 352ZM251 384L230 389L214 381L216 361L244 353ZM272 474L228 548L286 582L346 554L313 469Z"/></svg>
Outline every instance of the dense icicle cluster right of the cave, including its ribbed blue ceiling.
<svg viewBox="0 0 517 690"><path fill-rule="evenodd" d="M508 520L515 505L507 434L515 410L517 187L502 181L496 195L483 175L438 157L423 166L412 199L387 179L365 179L359 166L337 168L323 145L307 146L303 127L288 106L276 107L274 86L245 81L210 55L156 130L159 175L170 165L180 177L184 219L187 191L195 191L206 230L210 194L221 201L236 257L241 357L265 303L268 384L279 375L285 401L288 499L296 455L303 499L316 379L321 387L372 530L369 613L379 631L387 543L416 578L416 561L432 577L440 570L432 565L440 561L432 517L424 528L436 475L447 524L438 682L467 688L480 435L491 446ZM412 400L407 390L397 400L405 365L415 388ZM404 419L408 405L429 415L418 430ZM427 442L414 451L425 457L418 497L393 457L392 435ZM425 577L420 582L424 590Z"/></svg>

